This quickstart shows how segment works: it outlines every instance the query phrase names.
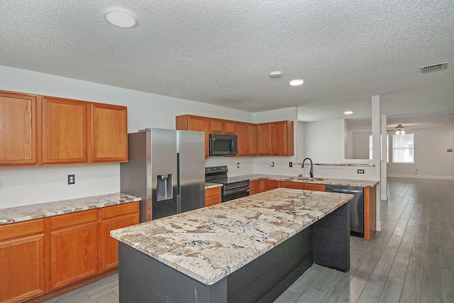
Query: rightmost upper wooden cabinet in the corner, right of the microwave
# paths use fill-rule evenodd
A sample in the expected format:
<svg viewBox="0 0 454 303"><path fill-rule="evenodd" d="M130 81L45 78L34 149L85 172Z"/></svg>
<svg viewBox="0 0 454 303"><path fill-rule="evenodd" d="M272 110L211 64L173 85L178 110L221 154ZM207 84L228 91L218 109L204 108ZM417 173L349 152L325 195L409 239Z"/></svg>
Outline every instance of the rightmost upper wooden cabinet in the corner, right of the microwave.
<svg viewBox="0 0 454 303"><path fill-rule="evenodd" d="M294 155L293 121L258 124L258 155Z"/></svg>

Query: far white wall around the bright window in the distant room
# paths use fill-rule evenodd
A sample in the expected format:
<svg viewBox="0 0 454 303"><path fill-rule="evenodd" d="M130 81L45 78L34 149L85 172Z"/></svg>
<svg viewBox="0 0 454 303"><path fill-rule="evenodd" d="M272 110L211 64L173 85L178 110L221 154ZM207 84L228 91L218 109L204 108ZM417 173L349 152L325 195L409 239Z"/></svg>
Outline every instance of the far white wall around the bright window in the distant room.
<svg viewBox="0 0 454 303"><path fill-rule="evenodd" d="M453 138L454 127L421 128L414 131L414 163L392 163L392 133L389 133L387 175L454 180L454 153L447 151L454 148Z"/></svg>

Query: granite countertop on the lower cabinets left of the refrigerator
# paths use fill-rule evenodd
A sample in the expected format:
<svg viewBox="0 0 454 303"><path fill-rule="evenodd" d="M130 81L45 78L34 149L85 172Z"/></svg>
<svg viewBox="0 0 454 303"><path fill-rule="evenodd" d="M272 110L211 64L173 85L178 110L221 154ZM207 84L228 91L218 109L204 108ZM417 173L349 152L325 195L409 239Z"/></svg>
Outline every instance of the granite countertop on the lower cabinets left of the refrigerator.
<svg viewBox="0 0 454 303"><path fill-rule="evenodd" d="M0 225L140 201L120 192L0 209Z"/></svg>

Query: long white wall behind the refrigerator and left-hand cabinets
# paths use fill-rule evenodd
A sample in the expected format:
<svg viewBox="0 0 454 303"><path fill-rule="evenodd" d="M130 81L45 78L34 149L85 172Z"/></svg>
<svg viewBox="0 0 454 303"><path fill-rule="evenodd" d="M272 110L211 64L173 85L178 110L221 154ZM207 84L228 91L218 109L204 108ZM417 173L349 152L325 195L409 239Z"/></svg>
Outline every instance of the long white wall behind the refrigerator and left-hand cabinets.
<svg viewBox="0 0 454 303"><path fill-rule="evenodd" d="M128 106L128 132L141 128L174 128L175 116L198 114L253 122L253 114L221 106L121 89L77 79L0 66L0 89ZM240 162L240 168L236 163ZM206 166L228 165L232 175L253 173L253 158L212 157ZM67 185L67 175L76 184ZM0 209L119 192L120 165L57 165L0 168Z"/></svg>

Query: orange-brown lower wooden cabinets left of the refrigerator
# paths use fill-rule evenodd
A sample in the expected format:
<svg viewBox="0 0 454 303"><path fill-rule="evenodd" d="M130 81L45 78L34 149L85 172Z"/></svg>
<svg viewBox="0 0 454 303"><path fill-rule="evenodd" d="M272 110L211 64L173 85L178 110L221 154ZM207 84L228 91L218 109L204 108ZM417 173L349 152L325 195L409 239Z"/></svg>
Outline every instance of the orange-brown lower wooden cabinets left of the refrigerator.
<svg viewBox="0 0 454 303"><path fill-rule="evenodd" d="M0 302L26 299L118 266L110 231L139 222L139 202L0 226Z"/></svg>

